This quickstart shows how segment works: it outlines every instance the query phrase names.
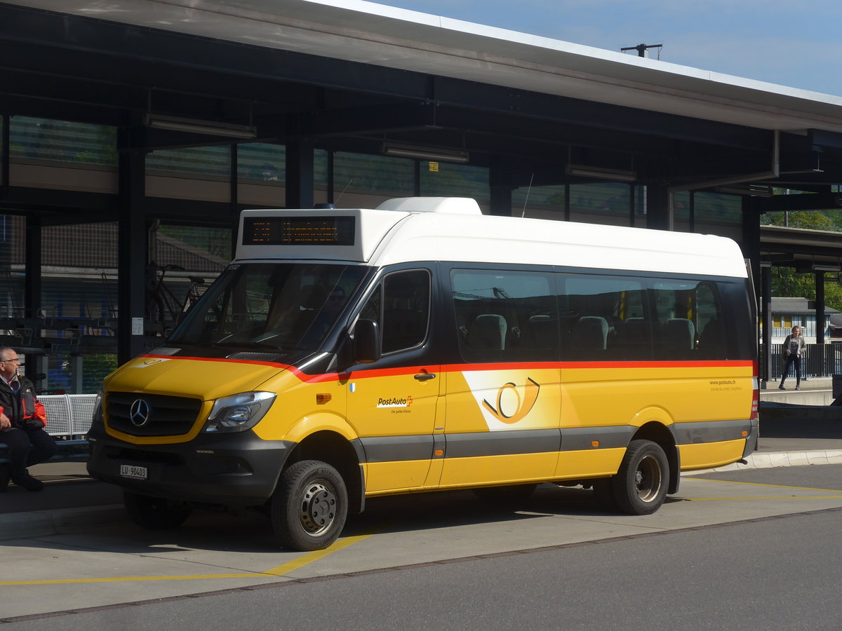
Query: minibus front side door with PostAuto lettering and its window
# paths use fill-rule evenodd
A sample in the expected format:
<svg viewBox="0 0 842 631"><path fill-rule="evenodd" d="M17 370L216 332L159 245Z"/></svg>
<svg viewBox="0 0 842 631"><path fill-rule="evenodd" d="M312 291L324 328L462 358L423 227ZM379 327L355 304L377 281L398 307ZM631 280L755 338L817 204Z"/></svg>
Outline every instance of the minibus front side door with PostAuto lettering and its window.
<svg viewBox="0 0 842 631"><path fill-rule="evenodd" d="M378 323L382 352L355 365L348 380L368 493L424 488L428 477L442 381L430 341L433 278L429 268L388 273L360 311Z"/></svg>

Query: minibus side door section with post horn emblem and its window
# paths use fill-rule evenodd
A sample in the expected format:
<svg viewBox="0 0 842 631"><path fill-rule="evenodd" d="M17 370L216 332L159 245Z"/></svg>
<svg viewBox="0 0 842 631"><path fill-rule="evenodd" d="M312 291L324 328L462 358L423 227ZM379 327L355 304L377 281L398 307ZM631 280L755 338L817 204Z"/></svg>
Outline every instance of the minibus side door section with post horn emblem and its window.
<svg viewBox="0 0 842 631"><path fill-rule="evenodd" d="M552 477L560 445L558 314L550 273L455 269L442 486Z"/></svg>

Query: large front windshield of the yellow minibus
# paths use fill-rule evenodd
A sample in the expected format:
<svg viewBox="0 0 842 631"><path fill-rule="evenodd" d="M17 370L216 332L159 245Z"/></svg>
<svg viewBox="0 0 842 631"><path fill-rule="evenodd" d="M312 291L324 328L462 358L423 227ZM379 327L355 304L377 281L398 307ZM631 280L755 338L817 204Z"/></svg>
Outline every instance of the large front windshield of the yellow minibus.
<svg viewBox="0 0 842 631"><path fill-rule="evenodd" d="M322 263L232 263L169 341L280 352L315 350L366 270Z"/></svg>

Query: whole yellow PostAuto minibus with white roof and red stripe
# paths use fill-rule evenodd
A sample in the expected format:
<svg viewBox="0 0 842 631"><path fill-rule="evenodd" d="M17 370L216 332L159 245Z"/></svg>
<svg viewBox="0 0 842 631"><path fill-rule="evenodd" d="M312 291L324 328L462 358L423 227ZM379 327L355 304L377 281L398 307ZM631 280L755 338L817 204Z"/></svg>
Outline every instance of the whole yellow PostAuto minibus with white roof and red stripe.
<svg viewBox="0 0 842 631"><path fill-rule="evenodd" d="M652 513L754 449L750 287L718 236L463 198L246 210L234 262L104 380L88 471L145 528L260 506L296 550L418 491L584 485Z"/></svg>

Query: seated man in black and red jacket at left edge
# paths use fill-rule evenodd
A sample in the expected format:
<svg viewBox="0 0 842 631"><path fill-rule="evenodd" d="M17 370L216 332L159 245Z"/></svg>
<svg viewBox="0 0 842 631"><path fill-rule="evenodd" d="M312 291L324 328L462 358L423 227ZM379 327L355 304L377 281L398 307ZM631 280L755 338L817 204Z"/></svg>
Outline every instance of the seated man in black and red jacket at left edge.
<svg viewBox="0 0 842 631"><path fill-rule="evenodd" d="M10 463L0 464L0 492L8 480L26 490L41 490L27 467L56 453L56 441L44 431L44 406L35 399L35 387L18 374L20 360L13 348L0 348L0 443L8 445Z"/></svg>

